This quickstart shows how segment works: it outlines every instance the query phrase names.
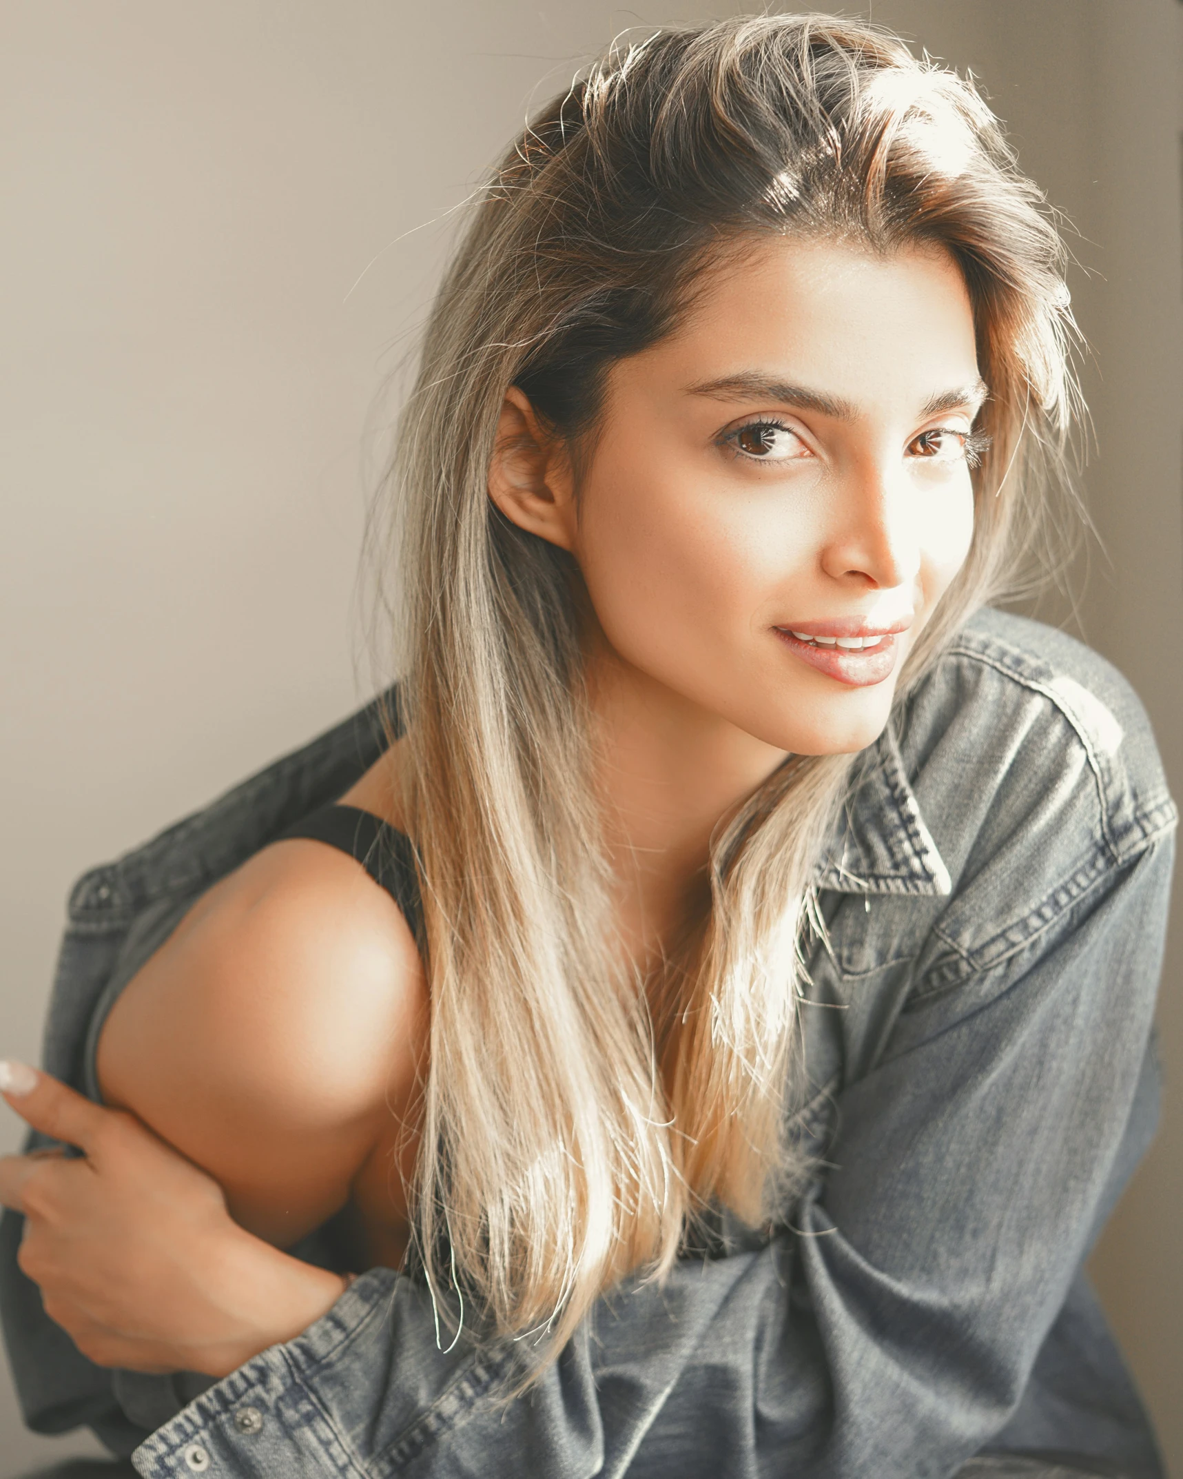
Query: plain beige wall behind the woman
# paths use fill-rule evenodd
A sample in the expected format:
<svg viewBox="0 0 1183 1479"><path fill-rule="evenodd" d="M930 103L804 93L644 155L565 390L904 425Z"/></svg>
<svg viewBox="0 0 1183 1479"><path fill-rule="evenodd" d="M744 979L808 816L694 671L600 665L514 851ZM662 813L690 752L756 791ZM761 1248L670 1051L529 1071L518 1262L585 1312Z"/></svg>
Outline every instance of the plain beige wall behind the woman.
<svg viewBox="0 0 1183 1479"><path fill-rule="evenodd" d="M1183 794L1183 6L868 9L973 70L1075 225L1103 541L1079 620ZM358 553L447 211L612 34L710 12L0 0L0 1053L37 1057L84 867L386 676ZM1164 1127L1094 1272L1183 1479L1179 924ZM0 1439L0 1476L95 1451L24 1433L6 1384Z"/></svg>

